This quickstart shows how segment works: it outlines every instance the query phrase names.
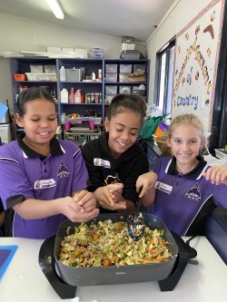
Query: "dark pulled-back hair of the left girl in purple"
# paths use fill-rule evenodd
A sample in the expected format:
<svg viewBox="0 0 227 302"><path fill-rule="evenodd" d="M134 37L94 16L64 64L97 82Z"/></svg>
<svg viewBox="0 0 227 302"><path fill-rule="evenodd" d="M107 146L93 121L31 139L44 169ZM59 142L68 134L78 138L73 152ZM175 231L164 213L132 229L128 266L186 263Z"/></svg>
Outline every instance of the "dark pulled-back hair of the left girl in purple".
<svg viewBox="0 0 227 302"><path fill-rule="evenodd" d="M20 116L25 115L25 103L34 101L37 99L44 99L49 102L53 102L55 106L54 99L52 95L46 90L44 87L30 87L26 89L24 92L19 93L18 99L17 99L17 108L18 108L18 114Z"/></svg>

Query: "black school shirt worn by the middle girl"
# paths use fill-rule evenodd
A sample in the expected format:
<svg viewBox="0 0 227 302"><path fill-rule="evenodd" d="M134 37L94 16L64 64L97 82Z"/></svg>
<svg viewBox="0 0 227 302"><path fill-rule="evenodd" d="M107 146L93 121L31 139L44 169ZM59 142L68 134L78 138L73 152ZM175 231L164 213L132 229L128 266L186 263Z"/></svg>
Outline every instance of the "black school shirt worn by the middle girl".
<svg viewBox="0 0 227 302"><path fill-rule="evenodd" d="M87 141L82 153L91 182L89 190L94 191L111 183L122 182L123 198L134 203L138 200L135 182L141 174L149 170L149 164L145 152L137 141L118 159L114 159L106 132L98 139ZM113 211L101 209L101 212Z"/></svg>

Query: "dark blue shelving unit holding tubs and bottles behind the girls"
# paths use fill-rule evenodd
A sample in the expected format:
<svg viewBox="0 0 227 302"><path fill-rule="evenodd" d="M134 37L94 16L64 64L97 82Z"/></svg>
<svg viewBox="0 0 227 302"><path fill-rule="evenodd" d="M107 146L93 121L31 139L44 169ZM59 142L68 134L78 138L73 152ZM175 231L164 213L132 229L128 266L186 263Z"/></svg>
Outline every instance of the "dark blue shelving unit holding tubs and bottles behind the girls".
<svg viewBox="0 0 227 302"><path fill-rule="evenodd" d="M110 64L116 65L116 74L115 81L109 82L106 78L106 68ZM137 64L144 65L146 81L145 82L125 82L119 80L119 74L121 72L121 65L132 65ZM14 74L15 73L31 73L30 65L54 65L56 70L56 78L55 81L15 81ZM102 80L99 82L88 82L89 80L82 82L61 82L60 81L60 73L59 70L61 66L64 66L65 69L72 68L83 68L86 76L92 76L92 73L98 74L99 70L102 70ZM72 114L79 113L84 116L95 114L98 117L101 117L104 121L105 108L108 103L108 95L106 95L106 90L108 87L114 88L114 93L123 92L122 88L130 88L132 92L133 87L138 87L143 83L145 86L145 101L147 102L148 89L149 89L149 73L150 73L150 62L149 60L124 60L124 59L68 59L68 58L57 58L57 59L49 59L49 58L12 58L11 59L11 76L12 76L12 93L13 93L13 102L15 112L16 108L16 98L19 93L19 90L31 87L31 86L47 86L50 92L56 94L57 99L57 112L58 112L58 122L61 124L61 115L62 113ZM70 90L74 88L81 90L84 95L86 93L98 93L102 96L101 100L98 103L94 102L84 102L84 103L64 103L61 102L61 90L63 88ZM112 95L113 96L113 95ZM109 98L110 99L110 98Z"/></svg>

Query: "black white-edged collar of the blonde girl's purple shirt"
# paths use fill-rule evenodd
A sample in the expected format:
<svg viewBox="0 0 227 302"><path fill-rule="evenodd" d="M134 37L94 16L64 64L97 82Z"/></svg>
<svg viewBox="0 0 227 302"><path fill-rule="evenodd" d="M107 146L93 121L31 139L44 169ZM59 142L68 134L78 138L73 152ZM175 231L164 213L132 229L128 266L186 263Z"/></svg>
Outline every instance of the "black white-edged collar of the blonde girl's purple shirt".
<svg viewBox="0 0 227 302"><path fill-rule="evenodd" d="M199 161L197 166L190 172L183 174L183 177L186 177L186 178L192 179L192 180L199 180L202 177L202 172L207 168L208 165L207 165L207 162L202 159L202 156L197 156L196 159ZM169 175L180 174L178 172L178 170L176 169L176 158L174 156L169 161L165 172Z"/></svg>

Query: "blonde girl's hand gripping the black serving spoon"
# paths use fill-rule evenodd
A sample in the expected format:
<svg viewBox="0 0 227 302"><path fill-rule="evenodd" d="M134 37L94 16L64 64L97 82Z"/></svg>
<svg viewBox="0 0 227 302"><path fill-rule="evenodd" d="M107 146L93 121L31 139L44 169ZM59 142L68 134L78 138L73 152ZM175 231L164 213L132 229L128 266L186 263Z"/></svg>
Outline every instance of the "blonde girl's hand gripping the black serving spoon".
<svg viewBox="0 0 227 302"><path fill-rule="evenodd" d="M143 195L145 195L148 190L151 190L154 187L157 178L157 174L153 171L144 173L138 177L135 186L136 191L138 193L140 192L139 198L143 198Z"/></svg>

